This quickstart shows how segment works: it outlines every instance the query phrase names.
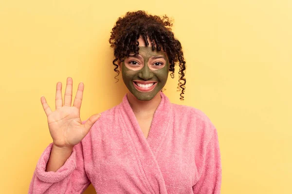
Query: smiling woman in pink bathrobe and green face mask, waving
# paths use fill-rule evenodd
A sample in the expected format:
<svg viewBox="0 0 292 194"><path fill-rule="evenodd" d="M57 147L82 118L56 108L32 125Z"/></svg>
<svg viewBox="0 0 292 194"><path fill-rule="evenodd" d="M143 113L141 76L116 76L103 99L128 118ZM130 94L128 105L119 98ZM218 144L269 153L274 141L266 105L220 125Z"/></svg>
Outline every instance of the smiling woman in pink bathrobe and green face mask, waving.
<svg viewBox="0 0 292 194"><path fill-rule="evenodd" d="M67 79L64 105L56 85L56 110L45 97L53 143L41 155L29 193L82 193L90 183L105 194L219 194L221 164L217 130L200 110L172 104L161 92L185 62L167 16L128 12L113 27L115 71L129 92L121 104L87 121L79 117L83 83L72 102Z"/></svg>

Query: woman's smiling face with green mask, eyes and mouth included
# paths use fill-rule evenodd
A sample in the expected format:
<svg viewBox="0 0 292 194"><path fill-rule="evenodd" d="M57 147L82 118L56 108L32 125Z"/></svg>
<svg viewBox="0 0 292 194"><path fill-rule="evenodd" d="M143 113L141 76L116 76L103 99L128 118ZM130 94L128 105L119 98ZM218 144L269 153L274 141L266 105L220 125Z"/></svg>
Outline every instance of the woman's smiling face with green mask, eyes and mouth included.
<svg viewBox="0 0 292 194"><path fill-rule="evenodd" d="M130 54L122 62L123 81L139 100L148 101L161 91L167 81L169 63L163 51L150 46L139 47L139 54Z"/></svg>

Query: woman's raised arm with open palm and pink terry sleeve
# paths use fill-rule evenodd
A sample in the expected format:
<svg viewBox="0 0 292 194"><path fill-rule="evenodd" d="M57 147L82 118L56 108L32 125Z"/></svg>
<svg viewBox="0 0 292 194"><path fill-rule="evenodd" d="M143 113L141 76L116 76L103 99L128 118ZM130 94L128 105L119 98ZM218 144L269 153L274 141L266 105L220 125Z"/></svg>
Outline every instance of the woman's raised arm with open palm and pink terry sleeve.
<svg viewBox="0 0 292 194"><path fill-rule="evenodd" d="M73 106L72 88L73 80L68 77L63 104L62 83L57 82L55 111L51 110L45 97L40 98L53 143L37 162L29 194L76 194L82 193L90 184L84 168L82 140L100 114L94 114L82 122L80 108L84 84L79 83Z"/></svg>

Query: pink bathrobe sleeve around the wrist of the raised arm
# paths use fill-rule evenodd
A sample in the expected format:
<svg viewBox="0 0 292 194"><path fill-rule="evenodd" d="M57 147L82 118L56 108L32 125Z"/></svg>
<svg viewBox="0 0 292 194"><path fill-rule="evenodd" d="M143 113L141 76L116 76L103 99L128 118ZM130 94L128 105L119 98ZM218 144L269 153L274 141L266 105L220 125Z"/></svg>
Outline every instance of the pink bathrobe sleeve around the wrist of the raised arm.
<svg viewBox="0 0 292 194"><path fill-rule="evenodd" d="M73 147L73 152L56 172L46 172L53 143L42 153L37 162L29 187L29 194L64 194L82 193L89 185L84 169L82 142Z"/></svg>

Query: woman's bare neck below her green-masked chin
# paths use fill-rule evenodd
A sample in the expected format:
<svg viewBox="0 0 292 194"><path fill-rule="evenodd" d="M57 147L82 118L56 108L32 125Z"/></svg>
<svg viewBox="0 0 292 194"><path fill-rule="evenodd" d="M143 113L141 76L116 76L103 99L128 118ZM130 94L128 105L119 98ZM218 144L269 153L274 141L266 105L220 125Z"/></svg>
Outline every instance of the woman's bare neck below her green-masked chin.
<svg viewBox="0 0 292 194"><path fill-rule="evenodd" d="M153 116L154 112L156 111L161 101L160 93L157 93L155 97L148 101L138 100L130 92L128 92L127 97L129 104L136 116L140 115Z"/></svg>

